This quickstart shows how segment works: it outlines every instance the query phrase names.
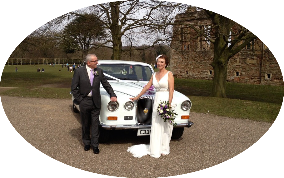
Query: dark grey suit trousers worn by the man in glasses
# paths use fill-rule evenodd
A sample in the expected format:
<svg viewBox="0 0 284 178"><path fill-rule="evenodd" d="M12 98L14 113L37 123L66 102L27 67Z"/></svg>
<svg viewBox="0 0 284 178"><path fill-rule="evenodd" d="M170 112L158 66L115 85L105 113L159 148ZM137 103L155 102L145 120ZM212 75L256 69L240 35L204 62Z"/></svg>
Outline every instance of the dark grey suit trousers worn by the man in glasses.
<svg viewBox="0 0 284 178"><path fill-rule="evenodd" d="M101 108L94 105L92 97L84 97L79 104L80 118L82 125L82 140L85 145L91 145L93 148L99 146L99 115ZM91 138L90 138L91 122Z"/></svg>

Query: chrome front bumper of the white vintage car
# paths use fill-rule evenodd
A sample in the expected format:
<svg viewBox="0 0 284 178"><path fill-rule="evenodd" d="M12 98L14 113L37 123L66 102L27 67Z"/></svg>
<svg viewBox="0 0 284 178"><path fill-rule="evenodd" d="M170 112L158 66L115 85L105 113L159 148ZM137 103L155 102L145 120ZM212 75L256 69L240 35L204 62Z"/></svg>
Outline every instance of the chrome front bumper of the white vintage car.
<svg viewBox="0 0 284 178"><path fill-rule="evenodd" d="M175 127L191 127L193 122L188 121L187 123L177 124ZM104 124L99 124L100 127L106 130L124 130L124 129L144 129L144 128L151 128L151 124L136 124L136 125L116 125L116 126L109 126Z"/></svg>

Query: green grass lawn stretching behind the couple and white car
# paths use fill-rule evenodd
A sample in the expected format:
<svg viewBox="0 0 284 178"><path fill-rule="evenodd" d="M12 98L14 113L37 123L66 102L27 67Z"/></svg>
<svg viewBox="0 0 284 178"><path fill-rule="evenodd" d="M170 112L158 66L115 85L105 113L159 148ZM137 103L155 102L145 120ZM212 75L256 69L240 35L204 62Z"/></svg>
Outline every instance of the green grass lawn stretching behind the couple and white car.
<svg viewBox="0 0 284 178"><path fill-rule="evenodd" d="M19 87L4 91L1 95L70 99L73 72L61 65L5 66L1 87ZM45 72L36 72L37 68ZM167 70L170 70L168 67ZM154 69L157 72L157 69ZM284 87L227 83L227 98L208 97L212 81L175 78L175 90L192 101L192 112L218 116L244 118L255 121L274 122L284 96ZM208 112L209 111L209 112Z"/></svg>

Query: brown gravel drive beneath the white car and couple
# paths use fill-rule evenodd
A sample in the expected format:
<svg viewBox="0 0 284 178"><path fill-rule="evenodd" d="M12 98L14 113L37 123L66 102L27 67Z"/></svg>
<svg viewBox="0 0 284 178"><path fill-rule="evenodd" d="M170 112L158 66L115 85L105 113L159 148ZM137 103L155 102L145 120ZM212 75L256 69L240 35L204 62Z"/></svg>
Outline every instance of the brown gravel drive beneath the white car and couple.
<svg viewBox="0 0 284 178"><path fill-rule="evenodd" d="M83 150L80 118L78 113L72 112L71 99L1 96L1 102L12 126L37 150L80 170L118 177L164 177L203 170L242 153L272 126L272 123L266 122L191 113L190 120L194 125L185 128L181 139L171 141L171 154L168 156L159 159L133 157L126 151L127 147L148 144L149 136L139 137L131 131L114 131L112 140L100 144L100 154L95 155L92 150ZM38 152L21 140L15 130L11 128L9 132L14 133L19 145L11 147L16 154L9 157L9 162L12 159L29 159L29 164L45 171L54 170L57 166L69 167ZM13 138L6 139L7 146L11 146ZM248 153L254 154L253 151ZM242 161L242 165L245 164L246 160ZM31 168L31 165L26 166Z"/></svg>

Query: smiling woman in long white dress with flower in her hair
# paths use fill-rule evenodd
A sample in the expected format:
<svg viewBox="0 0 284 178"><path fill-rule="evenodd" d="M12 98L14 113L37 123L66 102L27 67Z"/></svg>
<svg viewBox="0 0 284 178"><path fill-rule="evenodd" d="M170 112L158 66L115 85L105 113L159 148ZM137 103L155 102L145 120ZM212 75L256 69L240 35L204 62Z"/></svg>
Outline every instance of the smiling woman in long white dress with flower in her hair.
<svg viewBox="0 0 284 178"><path fill-rule="evenodd" d="M135 145L128 147L128 152L134 157L142 157L150 155L159 158L161 155L170 154L170 141L172 137L173 126L159 116L157 106L161 101L169 101L172 110L176 105L172 103L174 92L174 78L172 72L166 70L169 64L166 55L159 55L156 58L157 68L159 72L155 72L143 90L134 98L129 98L134 101L141 97L152 85L156 88L155 99L153 102L152 127L149 145Z"/></svg>

